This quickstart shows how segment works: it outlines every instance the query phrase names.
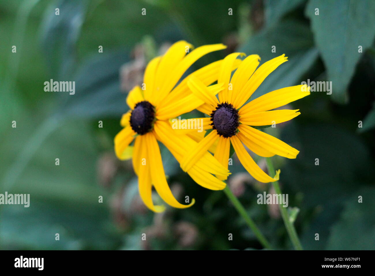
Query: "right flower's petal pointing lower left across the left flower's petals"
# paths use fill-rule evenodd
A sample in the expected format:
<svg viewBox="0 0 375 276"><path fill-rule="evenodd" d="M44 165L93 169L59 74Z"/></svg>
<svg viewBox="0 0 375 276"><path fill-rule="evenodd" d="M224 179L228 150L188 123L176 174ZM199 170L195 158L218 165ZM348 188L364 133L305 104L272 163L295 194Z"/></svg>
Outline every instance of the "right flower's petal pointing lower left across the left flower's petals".
<svg viewBox="0 0 375 276"><path fill-rule="evenodd" d="M204 137L195 148L190 149L180 164L181 169L186 172L194 164L196 164L196 162L201 159L201 157L207 152L217 138L219 138L217 131L213 130L206 137Z"/></svg>

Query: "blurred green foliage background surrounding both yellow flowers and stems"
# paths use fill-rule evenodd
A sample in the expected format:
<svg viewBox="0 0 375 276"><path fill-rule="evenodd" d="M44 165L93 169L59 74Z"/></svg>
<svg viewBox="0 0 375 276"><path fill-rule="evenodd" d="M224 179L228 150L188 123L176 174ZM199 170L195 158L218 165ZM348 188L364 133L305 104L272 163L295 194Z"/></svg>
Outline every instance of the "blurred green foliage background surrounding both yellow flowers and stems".
<svg viewBox="0 0 375 276"><path fill-rule="evenodd" d="M254 98L332 81L332 95L312 92L290 104L300 116L266 129L300 150L294 160L273 160L305 249L374 249L374 26L370 0L1 1L0 193L29 193L30 207L0 205L0 248L262 249L224 193L195 184L165 148L172 192L180 202L196 199L186 210L147 210L131 161L114 155L127 92L152 57L184 39L228 45L189 72L233 51L259 54L262 63L285 53L289 61ZM45 92L50 79L75 81L75 95ZM270 185L233 159L228 185L273 247L292 249L278 207L257 204Z"/></svg>

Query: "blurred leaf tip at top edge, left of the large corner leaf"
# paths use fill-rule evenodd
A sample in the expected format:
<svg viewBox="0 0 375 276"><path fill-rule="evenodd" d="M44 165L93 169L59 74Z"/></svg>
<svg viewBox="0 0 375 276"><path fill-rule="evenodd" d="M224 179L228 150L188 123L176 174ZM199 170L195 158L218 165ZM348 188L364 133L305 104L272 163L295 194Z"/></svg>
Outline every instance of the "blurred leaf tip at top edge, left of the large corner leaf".
<svg viewBox="0 0 375 276"><path fill-rule="evenodd" d="M267 27L278 23L285 14L297 8L302 2L305 2L305 0L265 0L264 14Z"/></svg>

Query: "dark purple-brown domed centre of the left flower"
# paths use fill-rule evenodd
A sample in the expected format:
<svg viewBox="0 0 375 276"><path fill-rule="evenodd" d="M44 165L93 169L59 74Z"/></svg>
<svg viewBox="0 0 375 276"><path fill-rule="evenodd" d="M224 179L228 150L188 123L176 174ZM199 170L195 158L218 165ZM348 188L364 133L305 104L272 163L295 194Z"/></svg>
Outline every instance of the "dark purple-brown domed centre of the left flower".
<svg viewBox="0 0 375 276"><path fill-rule="evenodd" d="M155 109L148 101L137 103L130 115L130 126L140 134L146 134L153 128L155 120Z"/></svg>

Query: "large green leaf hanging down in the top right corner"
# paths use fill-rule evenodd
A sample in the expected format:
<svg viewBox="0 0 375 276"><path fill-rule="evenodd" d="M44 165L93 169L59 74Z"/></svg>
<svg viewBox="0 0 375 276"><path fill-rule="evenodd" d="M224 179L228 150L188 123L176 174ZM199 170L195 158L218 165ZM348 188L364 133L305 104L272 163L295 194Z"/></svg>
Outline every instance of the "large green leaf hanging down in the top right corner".
<svg viewBox="0 0 375 276"><path fill-rule="evenodd" d="M315 15L315 9L319 15ZM316 45L333 84L332 98L347 103L347 87L363 52L372 45L375 35L373 0L311 0L306 6Z"/></svg>

